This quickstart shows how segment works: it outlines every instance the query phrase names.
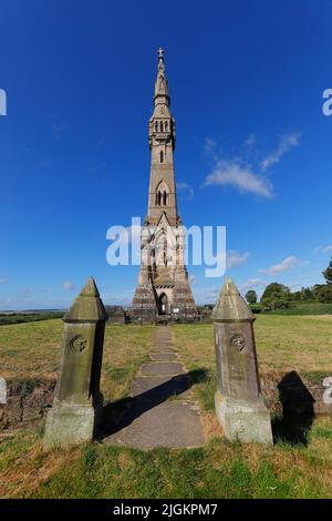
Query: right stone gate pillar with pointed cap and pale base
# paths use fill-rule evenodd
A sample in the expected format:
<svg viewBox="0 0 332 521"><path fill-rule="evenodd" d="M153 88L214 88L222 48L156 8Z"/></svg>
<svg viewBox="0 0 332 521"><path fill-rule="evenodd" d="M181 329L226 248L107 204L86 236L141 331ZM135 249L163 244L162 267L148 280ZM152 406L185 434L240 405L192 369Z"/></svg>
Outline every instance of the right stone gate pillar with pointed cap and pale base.
<svg viewBox="0 0 332 521"><path fill-rule="evenodd" d="M255 316L228 278L212 311L218 387L215 406L229 440L272 443L270 412L260 390Z"/></svg>

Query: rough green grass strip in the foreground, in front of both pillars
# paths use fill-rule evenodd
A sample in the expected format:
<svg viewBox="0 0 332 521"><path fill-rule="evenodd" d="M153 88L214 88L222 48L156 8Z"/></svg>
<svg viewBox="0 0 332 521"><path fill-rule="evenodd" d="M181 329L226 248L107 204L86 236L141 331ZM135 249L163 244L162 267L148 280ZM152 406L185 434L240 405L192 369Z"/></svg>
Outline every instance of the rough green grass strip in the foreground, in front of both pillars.
<svg viewBox="0 0 332 521"><path fill-rule="evenodd" d="M332 421L308 447L229 443L151 451L89 443L43 452L42 432L0 443L1 498L331 498Z"/></svg>

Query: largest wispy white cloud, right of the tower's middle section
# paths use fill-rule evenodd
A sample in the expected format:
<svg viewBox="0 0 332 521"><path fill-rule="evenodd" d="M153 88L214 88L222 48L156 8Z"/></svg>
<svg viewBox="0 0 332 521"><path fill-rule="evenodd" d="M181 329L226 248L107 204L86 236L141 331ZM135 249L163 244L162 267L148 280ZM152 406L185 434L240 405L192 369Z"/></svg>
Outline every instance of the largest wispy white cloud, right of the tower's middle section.
<svg viewBox="0 0 332 521"><path fill-rule="evenodd" d="M219 160L212 172L206 177L205 185L235 186L239 192L251 192L261 197L271 197L272 183L269 178L256 174L239 160Z"/></svg>

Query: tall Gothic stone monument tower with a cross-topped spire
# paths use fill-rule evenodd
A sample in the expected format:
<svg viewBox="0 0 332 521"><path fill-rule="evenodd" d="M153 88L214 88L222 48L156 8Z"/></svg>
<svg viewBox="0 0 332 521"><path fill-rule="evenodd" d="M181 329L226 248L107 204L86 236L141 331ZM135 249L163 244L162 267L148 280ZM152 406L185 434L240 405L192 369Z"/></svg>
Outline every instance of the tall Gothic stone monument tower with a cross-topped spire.
<svg viewBox="0 0 332 521"><path fill-rule="evenodd" d="M142 265L132 306L134 316L197 316L185 266L185 232L177 213L175 120L169 105L164 51L159 49L154 112L148 122L148 211L141 235Z"/></svg>

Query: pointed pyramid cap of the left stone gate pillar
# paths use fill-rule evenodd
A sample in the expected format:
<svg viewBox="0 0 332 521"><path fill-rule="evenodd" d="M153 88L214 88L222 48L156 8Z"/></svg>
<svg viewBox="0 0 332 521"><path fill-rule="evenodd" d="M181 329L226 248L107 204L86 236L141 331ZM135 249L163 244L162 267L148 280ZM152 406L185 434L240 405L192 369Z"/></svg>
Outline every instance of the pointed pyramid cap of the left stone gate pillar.
<svg viewBox="0 0 332 521"><path fill-rule="evenodd" d="M90 277L80 295L65 313L64 321L105 321L108 316L93 277Z"/></svg>

